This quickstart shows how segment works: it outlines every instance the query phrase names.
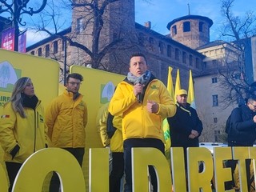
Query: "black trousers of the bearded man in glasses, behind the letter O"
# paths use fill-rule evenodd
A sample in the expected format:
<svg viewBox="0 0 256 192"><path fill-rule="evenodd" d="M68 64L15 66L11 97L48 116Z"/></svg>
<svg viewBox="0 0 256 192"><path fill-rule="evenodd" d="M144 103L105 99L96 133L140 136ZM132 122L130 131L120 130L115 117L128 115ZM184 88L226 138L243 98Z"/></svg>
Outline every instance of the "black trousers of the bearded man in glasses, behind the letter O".
<svg viewBox="0 0 256 192"><path fill-rule="evenodd" d="M82 167L83 155L85 154L85 148L62 148L63 150L67 150L70 154L74 155L74 158L78 160L79 165ZM60 181L58 178L58 174L54 172L51 180L49 192L58 192L60 187Z"/></svg>

